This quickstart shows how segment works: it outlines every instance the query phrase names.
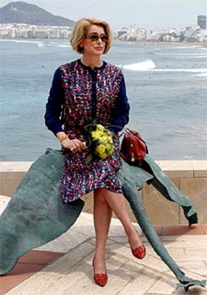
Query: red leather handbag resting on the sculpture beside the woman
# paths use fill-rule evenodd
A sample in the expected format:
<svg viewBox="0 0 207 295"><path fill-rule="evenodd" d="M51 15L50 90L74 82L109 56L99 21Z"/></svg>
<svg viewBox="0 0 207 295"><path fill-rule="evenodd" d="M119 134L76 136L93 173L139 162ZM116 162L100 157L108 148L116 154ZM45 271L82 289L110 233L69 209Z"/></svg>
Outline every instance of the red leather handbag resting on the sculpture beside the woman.
<svg viewBox="0 0 207 295"><path fill-rule="evenodd" d="M148 154L148 148L141 135L129 128L124 128L124 136L120 146L120 156L126 162L137 162L141 164L141 160Z"/></svg>

